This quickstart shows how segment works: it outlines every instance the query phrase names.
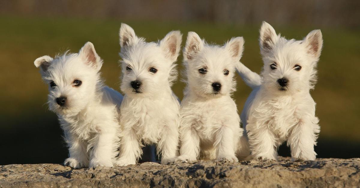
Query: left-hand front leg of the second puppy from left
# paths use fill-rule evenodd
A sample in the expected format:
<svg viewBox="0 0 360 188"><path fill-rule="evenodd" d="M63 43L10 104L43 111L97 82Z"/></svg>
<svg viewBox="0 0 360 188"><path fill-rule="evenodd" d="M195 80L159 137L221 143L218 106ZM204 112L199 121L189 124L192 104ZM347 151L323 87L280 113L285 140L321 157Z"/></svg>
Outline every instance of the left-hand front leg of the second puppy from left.
<svg viewBox="0 0 360 188"><path fill-rule="evenodd" d="M116 165L134 165L142 153L138 136L133 129L123 130L121 134L120 156L116 161Z"/></svg>

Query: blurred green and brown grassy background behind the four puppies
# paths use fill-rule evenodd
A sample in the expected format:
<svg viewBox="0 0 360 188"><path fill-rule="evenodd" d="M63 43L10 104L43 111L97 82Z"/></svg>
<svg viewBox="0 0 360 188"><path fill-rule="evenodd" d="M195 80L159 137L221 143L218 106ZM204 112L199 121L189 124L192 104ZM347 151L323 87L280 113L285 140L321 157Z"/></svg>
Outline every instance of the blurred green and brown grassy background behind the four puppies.
<svg viewBox="0 0 360 188"><path fill-rule="evenodd" d="M118 29L122 22L147 41L157 41L171 30L180 30L183 40L187 32L195 31L217 44L243 36L245 50L241 61L258 73L262 67L258 47L262 20L286 38L297 40L313 29L321 29L324 46L318 63L319 78L311 92L321 126L315 150L318 157L360 157L357 1L349 1L346 6L337 1L305 1L301 6L294 4L297 1L287 1L280 9L275 6L278 1L265 5L258 1L86 2L0 1L0 165L63 162L67 149L62 131L57 116L45 104L47 86L33 61L66 50L78 52L85 42L91 41L104 59L105 83L119 90ZM181 61L182 55L177 61L179 72L183 70ZM173 90L181 99L184 84L178 80ZM251 90L239 77L237 80L234 98L240 113ZM288 156L288 148L280 147L279 154Z"/></svg>

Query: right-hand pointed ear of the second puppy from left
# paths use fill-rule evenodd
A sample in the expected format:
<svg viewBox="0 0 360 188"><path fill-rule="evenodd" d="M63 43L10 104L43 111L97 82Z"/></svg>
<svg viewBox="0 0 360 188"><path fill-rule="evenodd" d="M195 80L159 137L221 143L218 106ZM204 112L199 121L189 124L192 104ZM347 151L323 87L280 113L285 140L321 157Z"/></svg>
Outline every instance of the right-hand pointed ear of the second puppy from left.
<svg viewBox="0 0 360 188"><path fill-rule="evenodd" d="M179 56L180 45L183 35L180 31L170 31L167 35L159 42L159 46L165 52L166 57L171 61L176 61Z"/></svg>

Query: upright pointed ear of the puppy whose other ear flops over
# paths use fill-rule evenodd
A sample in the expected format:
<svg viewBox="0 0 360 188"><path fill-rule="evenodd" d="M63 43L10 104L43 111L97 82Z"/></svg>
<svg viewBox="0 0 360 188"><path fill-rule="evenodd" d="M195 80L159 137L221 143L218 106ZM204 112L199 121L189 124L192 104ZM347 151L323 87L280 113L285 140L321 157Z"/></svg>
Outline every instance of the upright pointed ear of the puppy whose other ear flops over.
<svg viewBox="0 0 360 188"><path fill-rule="evenodd" d="M100 56L96 53L93 43L86 42L85 45L80 49L79 56L81 59L97 71L100 70L103 65L103 61Z"/></svg>

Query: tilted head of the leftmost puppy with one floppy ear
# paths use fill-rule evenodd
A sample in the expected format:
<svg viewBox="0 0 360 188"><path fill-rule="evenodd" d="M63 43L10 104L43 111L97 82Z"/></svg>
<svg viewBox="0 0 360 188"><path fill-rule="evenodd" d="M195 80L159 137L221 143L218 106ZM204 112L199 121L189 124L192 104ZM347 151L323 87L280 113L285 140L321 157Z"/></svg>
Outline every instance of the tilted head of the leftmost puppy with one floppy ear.
<svg viewBox="0 0 360 188"><path fill-rule="evenodd" d="M49 109L60 115L76 115L95 97L101 85L103 64L93 43L87 42L77 54L64 53L54 59L42 56L34 61L49 86Z"/></svg>

